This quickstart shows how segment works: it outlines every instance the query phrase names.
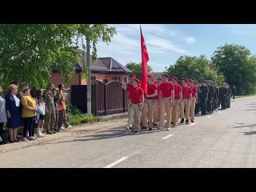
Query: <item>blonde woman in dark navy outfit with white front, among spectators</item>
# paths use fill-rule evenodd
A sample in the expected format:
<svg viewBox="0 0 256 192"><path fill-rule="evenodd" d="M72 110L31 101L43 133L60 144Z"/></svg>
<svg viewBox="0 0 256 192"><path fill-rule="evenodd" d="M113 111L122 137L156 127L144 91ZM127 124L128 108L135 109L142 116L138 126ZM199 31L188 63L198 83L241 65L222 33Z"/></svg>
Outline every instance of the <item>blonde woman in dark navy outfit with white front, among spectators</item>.
<svg viewBox="0 0 256 192"><path fill-rule="evenodd" d="M22 126L21 105L18 96L18 86L14 84L9 86L8 94L6 94L6 115L9 129L10 142L18 142L17 131L18 127Z"/></svg>

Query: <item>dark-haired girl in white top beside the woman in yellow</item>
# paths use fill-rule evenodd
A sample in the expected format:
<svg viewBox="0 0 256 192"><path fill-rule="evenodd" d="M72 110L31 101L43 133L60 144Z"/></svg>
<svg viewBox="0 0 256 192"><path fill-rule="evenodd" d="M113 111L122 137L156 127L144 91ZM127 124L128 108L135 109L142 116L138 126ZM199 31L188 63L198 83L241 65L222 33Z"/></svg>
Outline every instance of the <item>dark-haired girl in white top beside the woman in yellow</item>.
<svg viewBox="0 0 256 192"><path fill-rule="evenodd" d="M45 136L44 134L42 134L42 129L43 129L44 118L46 114L46 103L42 98L42 90L36 90L35 98L37 102L37 122L38 122L37 134L38 134L38 138L42 138Z"/></svg>

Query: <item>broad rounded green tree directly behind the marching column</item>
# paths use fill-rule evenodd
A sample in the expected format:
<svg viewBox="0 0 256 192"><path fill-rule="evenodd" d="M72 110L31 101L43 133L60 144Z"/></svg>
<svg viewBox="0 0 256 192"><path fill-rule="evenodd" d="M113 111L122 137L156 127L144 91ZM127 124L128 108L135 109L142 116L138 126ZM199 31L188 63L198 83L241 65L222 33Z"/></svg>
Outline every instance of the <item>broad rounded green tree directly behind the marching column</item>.
<svg viewBox="0 0 256 192"><path fill-rule="evenodd" d="M199 57L182 56L166 69L171 77L193 78L194 80L212 80L221 84L224 82L223 74L218 74L215 66L206 56Z"/></svg>

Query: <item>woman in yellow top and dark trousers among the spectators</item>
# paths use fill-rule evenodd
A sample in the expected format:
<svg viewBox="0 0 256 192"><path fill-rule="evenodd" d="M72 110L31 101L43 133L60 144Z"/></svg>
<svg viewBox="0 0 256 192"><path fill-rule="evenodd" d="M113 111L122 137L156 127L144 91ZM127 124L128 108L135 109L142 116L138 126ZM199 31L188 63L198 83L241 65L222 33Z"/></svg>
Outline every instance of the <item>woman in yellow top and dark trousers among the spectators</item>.
<svg viewBox="0 0 256 192"><path fill-rule="evenodd" d="M23 86L22 87L22 118L23 118L23 141L27 142L28 140L33 141L35 140L34 138L34 125L33 125L33 120L36 115L37 111L37 106L36 106L36 101L34 98L31 97L30 95L30 88L29 86ZM29 137L28 140L26 138L26 132L29 132Z"/></svg>

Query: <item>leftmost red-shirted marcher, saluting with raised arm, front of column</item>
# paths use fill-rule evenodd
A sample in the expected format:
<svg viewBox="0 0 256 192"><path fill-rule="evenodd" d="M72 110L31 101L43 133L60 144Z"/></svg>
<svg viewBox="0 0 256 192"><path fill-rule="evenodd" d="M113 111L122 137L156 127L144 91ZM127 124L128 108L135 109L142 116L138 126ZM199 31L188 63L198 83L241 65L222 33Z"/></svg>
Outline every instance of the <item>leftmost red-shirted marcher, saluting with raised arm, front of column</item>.
<svg viewBox="0 0 256 192"><path fill-rule="evenodd" d="M141 124L141 112L144 103L144 93L140 86L140 81L138 78L135 78L134 81L131 82L132 86L127 86L129 82L122 84L122 89L127 90L130 95L130 113L128 118L134 118L134 122L132 127L129 127L130 131L134 131L134 134L138 134L138 130Z"/></svg>

